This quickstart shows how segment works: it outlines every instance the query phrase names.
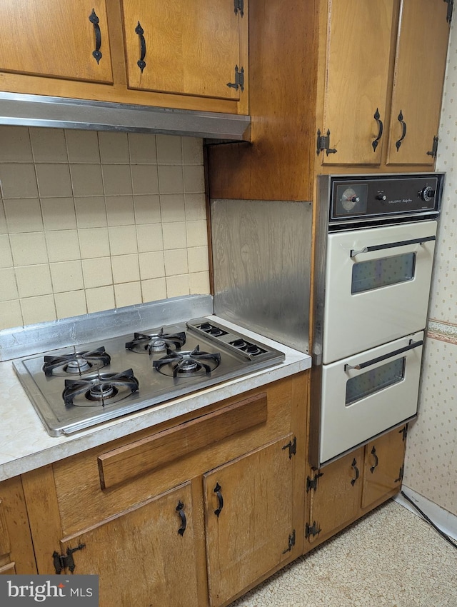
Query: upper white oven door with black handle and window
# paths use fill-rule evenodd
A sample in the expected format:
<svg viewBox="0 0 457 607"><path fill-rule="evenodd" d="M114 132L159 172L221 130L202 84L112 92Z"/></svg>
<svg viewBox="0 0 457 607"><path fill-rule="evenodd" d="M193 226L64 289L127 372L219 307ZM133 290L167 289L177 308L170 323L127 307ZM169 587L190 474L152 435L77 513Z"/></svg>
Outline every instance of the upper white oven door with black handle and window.
<svg viewBox="0 0 457 607"><path fill-rule="evenodd" d="M328 235L323 363L426 326L436 221Z"/></svg>

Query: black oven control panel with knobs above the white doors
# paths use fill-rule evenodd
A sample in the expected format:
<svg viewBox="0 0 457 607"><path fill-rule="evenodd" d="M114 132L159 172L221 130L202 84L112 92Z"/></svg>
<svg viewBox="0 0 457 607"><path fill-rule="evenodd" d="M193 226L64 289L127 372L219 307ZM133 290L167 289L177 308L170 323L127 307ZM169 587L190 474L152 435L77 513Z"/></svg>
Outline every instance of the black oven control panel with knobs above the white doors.
<svg viewBox="0 0 457 607"><path fill-rule="evenodd" d="M443 177L441 173L325 176L329 224L437 216Z"/></svg>

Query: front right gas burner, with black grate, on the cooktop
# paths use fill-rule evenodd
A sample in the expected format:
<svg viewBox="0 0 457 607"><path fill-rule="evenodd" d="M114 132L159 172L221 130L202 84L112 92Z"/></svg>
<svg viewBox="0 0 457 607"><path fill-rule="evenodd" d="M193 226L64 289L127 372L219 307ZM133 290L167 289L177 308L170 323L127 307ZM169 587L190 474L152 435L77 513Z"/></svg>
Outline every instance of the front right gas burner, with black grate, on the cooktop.
<svg viewBox="0 0 457 607"><path fill-rule="evenodd" d="M219 352L201 352L200 346L187 352L167 351L159 361L154 361L154 368L169 377L191 377L196 375L210 375L211 371L219 366L221 355Z"/></svg>

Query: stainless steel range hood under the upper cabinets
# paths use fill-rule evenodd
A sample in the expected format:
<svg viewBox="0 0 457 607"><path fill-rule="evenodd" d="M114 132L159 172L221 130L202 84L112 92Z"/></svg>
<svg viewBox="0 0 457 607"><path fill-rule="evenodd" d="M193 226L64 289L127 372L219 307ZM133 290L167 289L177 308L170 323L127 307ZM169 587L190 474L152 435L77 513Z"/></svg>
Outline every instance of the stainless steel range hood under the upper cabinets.
<svg viewBox="0 0 457 607"><path fill-rule="evenodd" d="M251 119L237 114L0 92L0 124L248 141Z"/></svg>

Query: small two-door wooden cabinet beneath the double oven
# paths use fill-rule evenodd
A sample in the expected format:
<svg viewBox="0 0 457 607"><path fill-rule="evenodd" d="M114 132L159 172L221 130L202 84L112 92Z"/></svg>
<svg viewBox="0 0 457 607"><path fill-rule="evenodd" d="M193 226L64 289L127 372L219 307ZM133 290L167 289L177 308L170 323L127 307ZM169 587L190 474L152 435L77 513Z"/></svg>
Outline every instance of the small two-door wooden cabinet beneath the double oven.
<svg viewBox="0 0 457 607"><path fill-rule="evenodd" d="M306 480L305 551L325 541L401 488L406 426L324 466Z"/></svg>

